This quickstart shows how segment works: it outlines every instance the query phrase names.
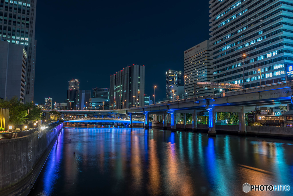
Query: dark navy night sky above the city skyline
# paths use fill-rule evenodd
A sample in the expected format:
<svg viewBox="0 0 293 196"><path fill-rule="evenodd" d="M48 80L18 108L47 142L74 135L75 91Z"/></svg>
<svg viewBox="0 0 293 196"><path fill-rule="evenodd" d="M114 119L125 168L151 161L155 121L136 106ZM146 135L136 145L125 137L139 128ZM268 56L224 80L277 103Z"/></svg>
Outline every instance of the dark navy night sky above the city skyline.
<svg viewBox="0 0 293 196"><path fill-rule="evenodd" d="M169 69L183 51L209 39L209 4L196 1L37 1L35 103L62 103L68 81L109 88L110 75L145 66L145 93L165 97Z"/></svg>

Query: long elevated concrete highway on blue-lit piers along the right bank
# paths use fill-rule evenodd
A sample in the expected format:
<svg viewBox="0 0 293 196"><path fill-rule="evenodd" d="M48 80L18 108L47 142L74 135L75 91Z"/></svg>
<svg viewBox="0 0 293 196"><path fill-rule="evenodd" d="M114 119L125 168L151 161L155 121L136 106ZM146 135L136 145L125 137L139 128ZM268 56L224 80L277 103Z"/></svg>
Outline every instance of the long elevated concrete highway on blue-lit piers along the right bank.
<svg viewBox="0 0 293 196"><path fill-rule="evenodd" d="M193 130L197 128L197 113L207 111L209 113L208 127L209 135L215 135L215 121L217 112L236 112L239 114L239 134L246 134L245 113L254 110L255 106L280 106L292 103L293 82L281 82L272 85L263 85L245 90L235 90L226 93L201 96L184 100L174 100L164 103L155 103L133 108L118 110L57 110L60 113L68 114L127 114L130 116L130 127L134 115L144 115L145 128L149 128L149 115L162 115L163 128L166 128L167 117L171 121L171 129L176 130L176 113L183 113L184 125L186 113L193 115ZM42 110L48 112L48 110ZM185 128L185 126L184 126Z"/></svg>

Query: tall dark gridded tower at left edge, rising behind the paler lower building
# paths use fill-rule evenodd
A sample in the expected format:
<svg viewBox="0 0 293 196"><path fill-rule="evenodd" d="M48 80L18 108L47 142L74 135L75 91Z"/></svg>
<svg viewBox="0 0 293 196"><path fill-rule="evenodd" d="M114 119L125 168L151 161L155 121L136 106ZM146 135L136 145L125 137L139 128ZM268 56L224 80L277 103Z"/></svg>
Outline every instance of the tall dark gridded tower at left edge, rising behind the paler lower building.
<svg viewBox="0 0 293 196"><path fill-rule="evenodd" d="M25 102L32 102L34 98L36 3L36 0L0 1L0 37L9 43L23 45L27 51Z"/></svg>

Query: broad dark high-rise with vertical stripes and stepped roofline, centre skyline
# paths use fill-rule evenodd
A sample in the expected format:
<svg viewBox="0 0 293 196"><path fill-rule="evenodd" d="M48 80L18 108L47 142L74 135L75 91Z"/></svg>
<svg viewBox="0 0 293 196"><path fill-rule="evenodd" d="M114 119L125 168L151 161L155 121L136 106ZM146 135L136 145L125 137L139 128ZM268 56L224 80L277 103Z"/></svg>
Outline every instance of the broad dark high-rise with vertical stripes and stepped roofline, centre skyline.
<svg viewBox="0 0 293 196"><path fill-rule="evenodd" d="M132 65L110 76L110 110L144 105L144 66Z"/></svg>

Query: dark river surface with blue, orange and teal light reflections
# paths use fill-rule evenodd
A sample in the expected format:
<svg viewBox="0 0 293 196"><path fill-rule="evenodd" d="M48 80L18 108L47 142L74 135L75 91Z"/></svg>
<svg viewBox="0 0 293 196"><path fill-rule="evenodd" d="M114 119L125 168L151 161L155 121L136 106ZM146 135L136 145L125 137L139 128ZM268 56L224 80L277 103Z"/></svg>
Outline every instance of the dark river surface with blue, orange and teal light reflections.
<svg viewBox="0 0 293 196"><path fill-rule="evenodd" d="M291 190L246 194L242 191L246 182L290 185ZM160 129L65 127L30 195L292 193L292 140L208 137L206 133Z"/></svg>

